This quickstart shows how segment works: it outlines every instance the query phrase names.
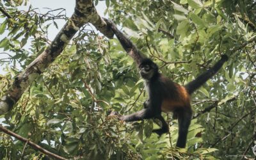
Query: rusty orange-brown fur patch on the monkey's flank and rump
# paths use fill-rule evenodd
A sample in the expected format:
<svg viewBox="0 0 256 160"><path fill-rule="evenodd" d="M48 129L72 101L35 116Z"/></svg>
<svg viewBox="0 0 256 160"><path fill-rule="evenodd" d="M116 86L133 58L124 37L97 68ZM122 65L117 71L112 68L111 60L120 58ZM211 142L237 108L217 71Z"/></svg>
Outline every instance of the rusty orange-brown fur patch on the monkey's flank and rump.
<svg viewBox="0 0 256 160"><path fill-rule="evenodd" d="M175 109L190 107L189 94L188 92L186 92L184 86L180 86L179 84L177 84L177 89L179 98L173 99L172 97L168 97L164 99L161 105L161 110L163 112L169 113L175 111Z"/></svg>

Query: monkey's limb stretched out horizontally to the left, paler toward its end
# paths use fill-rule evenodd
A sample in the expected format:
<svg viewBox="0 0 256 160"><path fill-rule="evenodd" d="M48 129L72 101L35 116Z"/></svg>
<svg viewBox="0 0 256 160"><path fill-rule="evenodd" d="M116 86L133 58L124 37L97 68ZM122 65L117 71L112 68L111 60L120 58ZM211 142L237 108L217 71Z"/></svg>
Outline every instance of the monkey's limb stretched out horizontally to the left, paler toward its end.
<svg viewBox="0 0 256 160"><path fill-rule="evenodd" d="M125 122L138 121L148 118L154 118L158 113L156 111L152 111L150 108L142 109L136 113L132 113L131 115L122 116L120 119Z"/></svg>

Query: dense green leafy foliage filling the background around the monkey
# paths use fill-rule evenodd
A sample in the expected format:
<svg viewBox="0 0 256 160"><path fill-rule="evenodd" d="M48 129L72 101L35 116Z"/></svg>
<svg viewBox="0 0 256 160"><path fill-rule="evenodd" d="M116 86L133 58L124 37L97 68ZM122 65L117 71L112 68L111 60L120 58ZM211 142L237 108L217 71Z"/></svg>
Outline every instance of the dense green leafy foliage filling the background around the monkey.
<svg viewBox="0 0 256 160"><path fill-rule="evenodd" d="M11 1L12 2L12 1ZM22 1L2 1L0 96L15 75L47 46L47 29L67 19L62 10L20 11ZM97 4L97 1L95 1ZM74 159L236 159L253 157L256 131L253 0L106 0L109 19L176 83L185 84L220 59L230 58L192 97L194 119L188 150L175 150L177 120L163 113L170 134L157 138L153 120L125 124L108 116L143 108L147 95L136 65L118 40L81 28L72 43L19 103L1 116L4 126L47 150ZM53 13L53 14L52 14ZM29 46L26 47L25 45ZM24 47L25 46L25 47ZM208 109L205 109L208 108ZM24 148L26 147L26 148ZM23 151L22 151L23 150ZM0 159L44 158L44 154L0 132Z"/></svg>

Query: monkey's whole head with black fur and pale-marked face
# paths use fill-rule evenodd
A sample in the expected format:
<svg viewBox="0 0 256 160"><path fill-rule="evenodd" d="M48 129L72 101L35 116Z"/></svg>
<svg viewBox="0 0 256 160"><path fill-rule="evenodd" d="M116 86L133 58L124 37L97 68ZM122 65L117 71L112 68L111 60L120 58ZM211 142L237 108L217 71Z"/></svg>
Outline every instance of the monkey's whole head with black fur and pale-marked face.
<svg viewBox="0 0 256 160"><path fill-rule="evenodd" d="M158 67L149 58L145 58L141 61L140 65L140 76L145 80L150 80L152 77L155 77L159 74Z"/></svg>

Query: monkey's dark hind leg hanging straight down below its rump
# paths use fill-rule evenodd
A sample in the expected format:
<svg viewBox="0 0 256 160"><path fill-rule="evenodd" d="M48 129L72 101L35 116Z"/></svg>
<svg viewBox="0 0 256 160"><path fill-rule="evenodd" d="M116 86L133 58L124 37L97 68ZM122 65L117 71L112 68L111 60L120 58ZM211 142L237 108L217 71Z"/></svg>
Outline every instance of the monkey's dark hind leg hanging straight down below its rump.
<svg viewBox="0 0 256 160"><path fill-rule="evenodd" d="M178 113L179 122L179 137L177 140L176 147L184 148L186 146L188 128L191 122L192 110L191 108L186 108L179 111Z"/></svg>

